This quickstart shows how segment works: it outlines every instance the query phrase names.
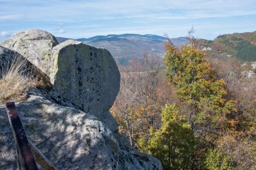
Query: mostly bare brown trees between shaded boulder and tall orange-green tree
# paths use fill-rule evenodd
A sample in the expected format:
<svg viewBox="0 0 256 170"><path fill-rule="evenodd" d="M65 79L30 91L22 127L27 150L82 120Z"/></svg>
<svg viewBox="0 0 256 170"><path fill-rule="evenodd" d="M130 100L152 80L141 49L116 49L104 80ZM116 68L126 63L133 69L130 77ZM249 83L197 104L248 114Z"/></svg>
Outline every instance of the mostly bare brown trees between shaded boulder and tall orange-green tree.
<svg viewBox="0 0 256 170"><path fill-rule="evenodd" d="M139 140L148 143L150 128L160 127L161 108L172 99L172 88L164 81L159 56L145 53L119 69L121 88L111 112L119 123L119 131L143 151Z"/></svg>

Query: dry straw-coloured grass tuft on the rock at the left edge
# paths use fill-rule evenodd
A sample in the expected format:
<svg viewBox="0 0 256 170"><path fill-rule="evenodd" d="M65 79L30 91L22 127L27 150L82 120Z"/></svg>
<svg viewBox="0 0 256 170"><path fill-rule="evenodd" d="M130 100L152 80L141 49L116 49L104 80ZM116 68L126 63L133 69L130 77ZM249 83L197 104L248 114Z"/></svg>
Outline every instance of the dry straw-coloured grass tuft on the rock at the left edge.
<svg viewBox="0 0 256 170"><path fill-rule="evenodd" d="M22 56L13 56L11 62L0 60L0 103L26 99L26 91L36 85L33 71L28 69L27 60Z"/></svg>

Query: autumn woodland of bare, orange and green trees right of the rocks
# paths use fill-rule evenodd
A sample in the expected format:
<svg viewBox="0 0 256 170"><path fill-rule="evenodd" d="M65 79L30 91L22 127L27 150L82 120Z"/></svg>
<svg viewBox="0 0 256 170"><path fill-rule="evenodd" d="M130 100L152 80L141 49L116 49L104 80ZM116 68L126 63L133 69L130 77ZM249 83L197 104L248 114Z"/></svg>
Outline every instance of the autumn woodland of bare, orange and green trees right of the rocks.
<svg viewBox="0 0 256 170"><path fill-rule="evenodd" d="M164 65L145 54L119 69L119 131L163 169L256 169L256 79L236 58L167 44Z"/></svg>

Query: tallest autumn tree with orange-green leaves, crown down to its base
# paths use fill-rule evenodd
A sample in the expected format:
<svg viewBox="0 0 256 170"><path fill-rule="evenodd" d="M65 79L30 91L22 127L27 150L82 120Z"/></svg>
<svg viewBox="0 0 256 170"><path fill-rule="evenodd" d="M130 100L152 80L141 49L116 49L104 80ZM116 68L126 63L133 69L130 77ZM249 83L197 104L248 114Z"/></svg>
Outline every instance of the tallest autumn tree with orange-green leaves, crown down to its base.
<svg viewBox="0 0 256 170"><path fill-rule="evenodd" d="M166 44L165 49L166 78L177 89L179 99L189 105L186 118L197 136L194 164L198 168L204 162L205 148L230 128L236 101L230 99L224 79L218 79L216 70L196 46L179 50Z"/></svg>

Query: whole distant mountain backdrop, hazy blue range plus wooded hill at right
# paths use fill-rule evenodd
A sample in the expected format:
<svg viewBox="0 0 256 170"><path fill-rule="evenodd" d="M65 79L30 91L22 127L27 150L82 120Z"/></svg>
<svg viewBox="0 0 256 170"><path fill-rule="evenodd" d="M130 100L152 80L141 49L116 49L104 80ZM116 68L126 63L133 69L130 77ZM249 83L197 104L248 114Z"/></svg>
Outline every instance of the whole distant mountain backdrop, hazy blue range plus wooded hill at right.
<svg viewBox="0 0 256 170"><path fill-rule="evenodd" d="M68 39L57 37L59 42ZM152 34L110 34L76 40L98 48L106 48L121 63L126 63L133 57L140 58L145 52L164 56L164 44L167 42L165 37ZM185 37L171 38L171 40L178 47L189 43ZM201 49L205 49L205 52L212 56L221 54L234 56L242 62L256 61L256 31L224 34L214 40L199 39L198 43Z"/></svg>

